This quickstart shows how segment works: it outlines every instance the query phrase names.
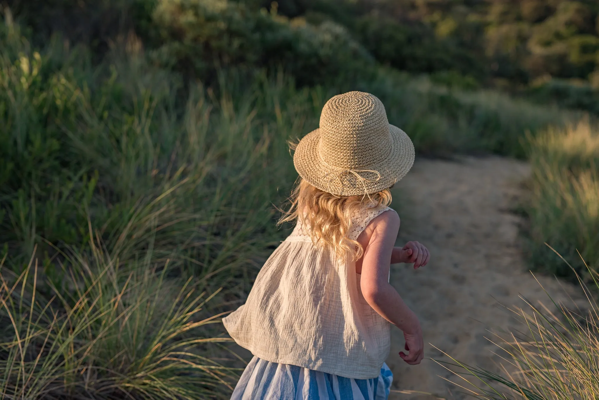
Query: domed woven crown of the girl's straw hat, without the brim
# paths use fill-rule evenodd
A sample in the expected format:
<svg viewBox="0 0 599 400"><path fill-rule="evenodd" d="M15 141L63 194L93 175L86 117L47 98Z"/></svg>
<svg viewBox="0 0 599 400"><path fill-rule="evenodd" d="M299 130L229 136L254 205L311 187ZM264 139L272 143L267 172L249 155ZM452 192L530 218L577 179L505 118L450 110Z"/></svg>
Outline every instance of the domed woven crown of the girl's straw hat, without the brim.
<svg viewBox="0 0 599 400"><path fill-rule="evenodd" d="M376 96L347 92L326 102L320 114L322 161L342 169L366 169L385 161L390 152L389 121Z"/></svg>

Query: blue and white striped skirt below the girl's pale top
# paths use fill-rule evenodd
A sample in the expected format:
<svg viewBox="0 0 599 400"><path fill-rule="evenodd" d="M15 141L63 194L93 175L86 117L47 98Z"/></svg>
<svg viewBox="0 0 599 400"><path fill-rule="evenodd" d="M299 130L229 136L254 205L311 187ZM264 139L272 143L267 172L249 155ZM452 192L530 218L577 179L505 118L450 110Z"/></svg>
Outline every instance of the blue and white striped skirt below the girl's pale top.
<svg viewBox="0 0 599 400"><path fill-rule="evenodd" d="M353 379L254 356L231 400L386 400L392 380L385 363L377 378Z"/></svg>

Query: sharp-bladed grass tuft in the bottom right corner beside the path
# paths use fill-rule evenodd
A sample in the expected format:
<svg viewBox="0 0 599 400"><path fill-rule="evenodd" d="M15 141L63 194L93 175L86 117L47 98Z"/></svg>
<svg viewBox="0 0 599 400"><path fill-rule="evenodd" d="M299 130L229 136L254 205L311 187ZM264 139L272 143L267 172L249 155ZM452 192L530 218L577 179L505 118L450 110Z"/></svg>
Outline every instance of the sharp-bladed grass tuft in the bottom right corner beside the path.
<svg viewBox="0 0 599 400"><path fill-rule="evenodd" d="M555 252L555 249L550 248ZM556 253L558 258L561 258ZM573 270L564 258L561 258ZM461 392L479 399L592 400L599 396L599 307L592 292L599 289L599 274L588 267L591 285L579 276L588 302L557 303L547 293L546 305L527 302L513 308L524 329L490 338L502 354L499 372L465 365L458 360L440 362L455 372ZM591 290L592 289L592 290ZM555 309L556 311L552 311Z"/></svg>

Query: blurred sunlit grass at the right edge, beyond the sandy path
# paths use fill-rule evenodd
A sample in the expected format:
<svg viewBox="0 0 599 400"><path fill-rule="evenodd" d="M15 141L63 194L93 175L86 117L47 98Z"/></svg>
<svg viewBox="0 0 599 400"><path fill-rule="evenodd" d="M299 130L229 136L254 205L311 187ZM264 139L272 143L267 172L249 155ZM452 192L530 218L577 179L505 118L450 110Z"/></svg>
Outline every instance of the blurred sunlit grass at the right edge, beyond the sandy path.
<svg viewBox="0 0 599 400"><path fill-rule="evenodd" d="M530 255L537 269L575 278L549 243L584 279L599 267L599 131L588 120L529 137L533 170Z"/></svg>

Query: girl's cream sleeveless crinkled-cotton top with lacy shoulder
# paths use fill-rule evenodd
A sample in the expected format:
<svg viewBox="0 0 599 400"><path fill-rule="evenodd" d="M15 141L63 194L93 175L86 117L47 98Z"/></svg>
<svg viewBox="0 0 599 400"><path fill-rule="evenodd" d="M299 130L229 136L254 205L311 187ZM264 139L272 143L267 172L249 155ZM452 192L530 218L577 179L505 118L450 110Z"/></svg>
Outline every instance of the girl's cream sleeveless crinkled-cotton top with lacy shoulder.
<svg viewBox="0 0 599 400"><path fill-rule="evenodd" d="M348 236L357 239L389 207L364 207ZM241 347L270 362L341 377L379 376L390 324L366 302L355 262L314 246L301 223L262 266L247 301L223 318Z"/></svg>

